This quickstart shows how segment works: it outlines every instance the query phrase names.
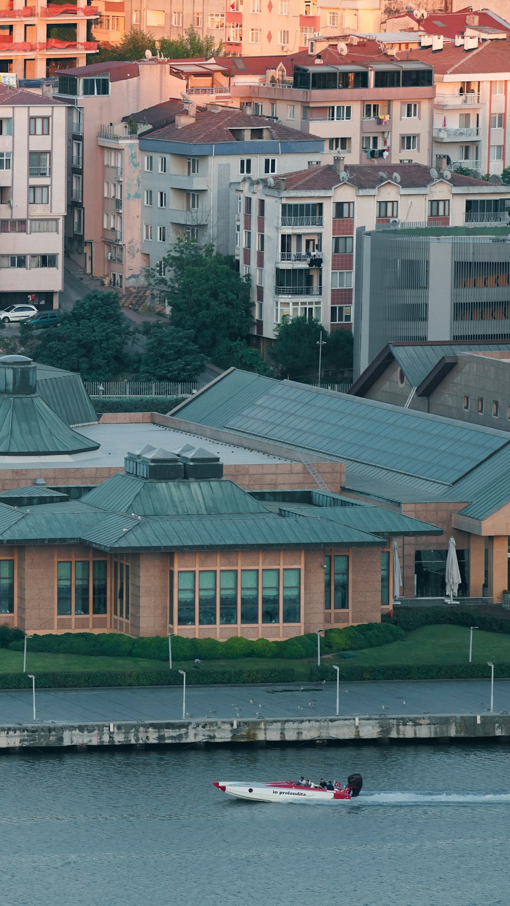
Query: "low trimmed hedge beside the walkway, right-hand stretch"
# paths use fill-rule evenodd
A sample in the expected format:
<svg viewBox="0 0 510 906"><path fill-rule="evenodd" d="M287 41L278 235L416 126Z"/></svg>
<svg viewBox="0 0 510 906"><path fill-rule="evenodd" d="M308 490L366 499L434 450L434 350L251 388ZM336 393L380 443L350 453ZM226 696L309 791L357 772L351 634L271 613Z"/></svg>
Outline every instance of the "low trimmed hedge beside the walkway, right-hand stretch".
<svg viewBox="0 0 510 906"><path fill-rule="evenodd" d="M490 667L486 664L380 664L374 667L363 667L361 664L340 666L342 681L363 679L487 679ZM497 679L510 677L510 664L495 664L494 675ZM329 665L313 667L310 671L312 680L336 680L336 670Z"/></svg>

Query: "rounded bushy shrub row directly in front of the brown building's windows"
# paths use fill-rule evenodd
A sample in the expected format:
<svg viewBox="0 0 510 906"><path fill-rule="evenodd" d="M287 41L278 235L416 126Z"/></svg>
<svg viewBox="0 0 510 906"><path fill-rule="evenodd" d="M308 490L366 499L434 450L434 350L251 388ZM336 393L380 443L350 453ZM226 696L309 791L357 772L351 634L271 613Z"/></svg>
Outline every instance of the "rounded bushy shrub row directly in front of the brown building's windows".
<svg viewBox="0 0 510 906"><path fill-rule="evenodd" d="M6 630L6 627L4 627ZM8 639L5 632L5 640ZM11 651L22 651L24 647L23 632L12 640L6 641ZM21 638L20 638L21 633ZM349 626L342 630L327 630L321 639L321 651L358 651L377 645L387 645L398 641L405 635L404 631L392 623L363 623L360 626ZM1 644L0 640L0 644ZM30 651L46 651L52 654L86 654L108 657L149 658L151 660L168 660L168 639L166 636L131 639L128 635L113 632L64 632L63 635L33 635L28 642ZM5 647L5 645L4 645ZM287 641L268 641L267 639L244 639L233 636L226 641L217 639L185 639L175 636L172 639L172 657L175 660L224 660L237 658L285 658L296 660L313 658L317 651L317 635L296 636Z"/></svg>

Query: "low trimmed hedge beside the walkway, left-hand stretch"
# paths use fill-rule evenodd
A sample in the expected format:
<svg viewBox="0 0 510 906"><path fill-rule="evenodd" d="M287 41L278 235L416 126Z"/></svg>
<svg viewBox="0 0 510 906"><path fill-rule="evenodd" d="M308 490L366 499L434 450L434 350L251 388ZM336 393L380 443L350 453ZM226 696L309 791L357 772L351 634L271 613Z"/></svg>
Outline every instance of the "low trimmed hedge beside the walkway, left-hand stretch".
<svg viewBox="0 0 510 906"><path fill-rule="evenodd" d="M189 686L238 686L244 683L293 682L292 668L284 670L193 670L186 674ZM111 686L182 686L177 670L77 670L38 672L38 689L88 689ZM32 689L26 673L0 673L0 689Z"/></svg>

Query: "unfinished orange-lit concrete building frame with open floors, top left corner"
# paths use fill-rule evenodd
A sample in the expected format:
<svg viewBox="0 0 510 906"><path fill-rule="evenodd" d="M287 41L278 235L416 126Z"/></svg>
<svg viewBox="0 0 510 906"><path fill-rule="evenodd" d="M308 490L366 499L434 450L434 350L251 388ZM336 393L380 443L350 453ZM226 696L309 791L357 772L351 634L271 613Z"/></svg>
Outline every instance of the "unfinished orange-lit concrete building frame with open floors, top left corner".
<svg viewBox="0 0 510 906"><path fill-rule="evenodd" d="M30 5L0 0L0 72L13 72L18 79L43 79L61 66L84 66L87 54L97 53L98 45L88 40L87 30L98 17L98 7L86 2L34 0Z"/></svg>

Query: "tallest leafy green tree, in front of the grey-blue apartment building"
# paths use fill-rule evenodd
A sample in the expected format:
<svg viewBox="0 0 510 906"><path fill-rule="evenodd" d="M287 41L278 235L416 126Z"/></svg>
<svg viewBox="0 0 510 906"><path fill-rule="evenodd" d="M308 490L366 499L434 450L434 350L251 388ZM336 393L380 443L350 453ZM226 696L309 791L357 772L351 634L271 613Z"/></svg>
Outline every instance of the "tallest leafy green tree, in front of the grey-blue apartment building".
<svg viewBox="0 0 510 906"><path fill-rule="evenodd" d="M254 318L249 277L240 276L234 259L214 246L179 237L159 266L149 270L148 281L166 295L172 325L191 331L208 359L217 361L222 342L243 340L250 333Z"/></svg>

